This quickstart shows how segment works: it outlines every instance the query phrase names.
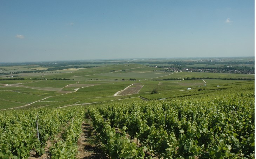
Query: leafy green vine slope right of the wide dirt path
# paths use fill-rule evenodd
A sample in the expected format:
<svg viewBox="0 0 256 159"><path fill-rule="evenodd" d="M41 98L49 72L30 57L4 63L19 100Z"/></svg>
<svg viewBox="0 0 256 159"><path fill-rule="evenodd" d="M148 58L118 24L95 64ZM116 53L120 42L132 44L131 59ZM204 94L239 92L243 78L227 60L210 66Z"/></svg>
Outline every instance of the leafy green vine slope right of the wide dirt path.
<svg viewBox="0 0 256 159"><path fill-rule="evenodd" d="M112 158L254 158L252 85L194 99L102 105L88 114Z"/></svg>

